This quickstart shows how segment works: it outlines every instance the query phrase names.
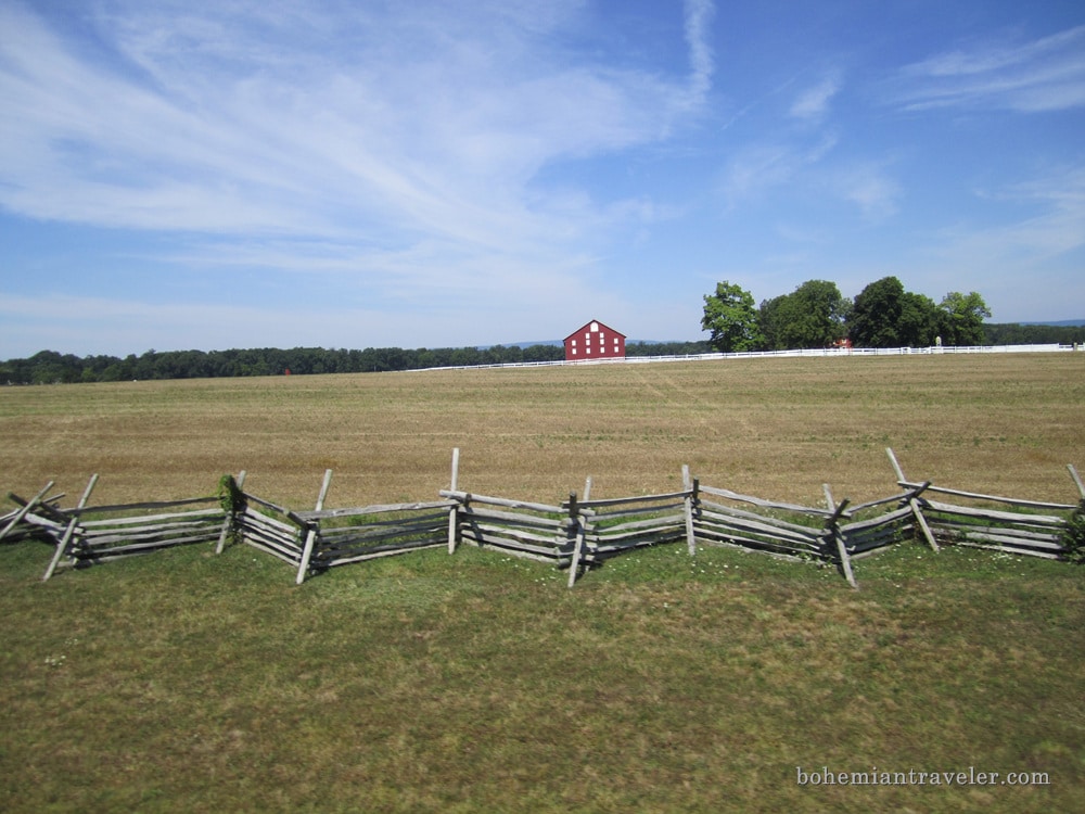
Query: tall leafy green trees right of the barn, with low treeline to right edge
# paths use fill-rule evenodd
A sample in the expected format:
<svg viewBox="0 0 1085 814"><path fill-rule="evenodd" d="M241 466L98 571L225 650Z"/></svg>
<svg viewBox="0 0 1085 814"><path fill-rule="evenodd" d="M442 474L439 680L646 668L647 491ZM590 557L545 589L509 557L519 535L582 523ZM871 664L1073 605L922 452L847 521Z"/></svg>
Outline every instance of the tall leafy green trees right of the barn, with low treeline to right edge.
<svg viewBox="0 0 1085 814"><path fill-rule="evenodd" d="M701 328L724 353L855 347L974 346L1085 341L1085 327L988 325L991 309L974 291L950 291L940 303L883 277L855 297L835 283L808 280L790 294L754 305L753 295L728 281L704 296Z"/></svg>

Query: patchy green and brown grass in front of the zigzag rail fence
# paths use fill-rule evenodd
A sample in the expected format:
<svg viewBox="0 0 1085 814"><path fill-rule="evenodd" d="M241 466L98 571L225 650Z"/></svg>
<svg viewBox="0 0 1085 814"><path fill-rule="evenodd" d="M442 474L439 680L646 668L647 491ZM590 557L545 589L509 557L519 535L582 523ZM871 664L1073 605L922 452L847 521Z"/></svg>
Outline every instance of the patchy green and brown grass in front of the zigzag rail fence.
<svg viewBox="0 0 1085 814"><path fill-rule="evenodd" d="M290 585L209 547L40 583L0 548L0 810L1072 811L1085 582L906 544L831 569L684 545L577 585L463 548ZM1042 772L1030 786L800 786Z"/></svg>

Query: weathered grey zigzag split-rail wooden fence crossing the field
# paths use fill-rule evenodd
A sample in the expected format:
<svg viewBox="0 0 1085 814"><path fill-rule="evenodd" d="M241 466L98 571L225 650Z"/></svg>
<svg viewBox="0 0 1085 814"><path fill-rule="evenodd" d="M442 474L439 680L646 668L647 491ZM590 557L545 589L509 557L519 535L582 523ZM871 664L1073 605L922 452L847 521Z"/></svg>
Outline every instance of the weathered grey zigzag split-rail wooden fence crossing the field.
<svg viewBox="0 0 1085 814"><path fill-rule="evenodd" d="M227 475L218 495L186 500L89 506L98 475L78 503L59 507L53 483L0 517L0 540L43 539L53 555L43 580L59 569L87 567L165 548L243 544L277 557L296 582L339 565L424 548L472 545L569 570L569 586L611 557L685 543L729 546L835 567L857 587L852 562L908 539L937 551L975 546L1017 555L1085 560L1085 485L1072 465L1076 504L1019 500L908 480L886 449L901 492L860 505L837 501L824 487L825 507L765 500L716 488L682 468L682 488L660 495L597 499L591 479L560 505L476 495L458 486L459 449L452 450L451 485L439 499L326 509L332 470L324 473L316 507L292 510L244 491L245 473ZM943 499L944 498L944 499ZM955 503L949 503L949 499Z"/></svg>

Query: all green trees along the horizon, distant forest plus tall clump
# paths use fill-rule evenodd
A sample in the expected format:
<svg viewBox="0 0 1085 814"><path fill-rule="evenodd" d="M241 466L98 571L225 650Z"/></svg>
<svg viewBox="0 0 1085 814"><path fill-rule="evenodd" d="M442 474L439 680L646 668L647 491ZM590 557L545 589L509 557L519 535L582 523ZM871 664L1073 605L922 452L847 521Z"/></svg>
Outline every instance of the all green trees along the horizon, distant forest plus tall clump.
<svg viewBox="0 0 1085 814"><path fill-rule="evenodd" d="M1085 326L988 325L991 310L976 292L949 292L941 303L905 291L895 277L867 285L854 301L835 283L808 280L760 306L739 285L723 281L704 296L700 342L629 342L627 356L682 356L711 351L787 351L839 346L1085 344ZM0 363L0 384L207 379L242 376L368 373L423 368L560 361L560 344L492 347L276 347L231 351L148 351L124 358L42 351Z"/></svg>

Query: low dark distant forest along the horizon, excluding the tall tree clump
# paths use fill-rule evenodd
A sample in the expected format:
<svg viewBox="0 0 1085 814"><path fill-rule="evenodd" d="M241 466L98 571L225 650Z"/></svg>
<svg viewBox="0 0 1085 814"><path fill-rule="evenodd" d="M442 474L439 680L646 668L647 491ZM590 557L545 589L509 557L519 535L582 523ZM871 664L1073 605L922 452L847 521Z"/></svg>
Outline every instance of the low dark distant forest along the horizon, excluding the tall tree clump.
<svg viewBox="0 0 1085 814"><path fill-rule="evenodd" d="M988 345L1085 344L1085 326L985 325ZM712 353L704 342L630 342L626 356L684 356ZM28 359L0 363L2 384L116 382L133 379L210 379L239 376L306 376L370 373L390 370L559 361L560 345L494 345L487 348L367 347L365 351L322 347L275 347L234 351L148 351L125 358L42 351Z"/></svg>

